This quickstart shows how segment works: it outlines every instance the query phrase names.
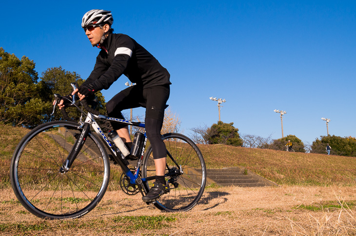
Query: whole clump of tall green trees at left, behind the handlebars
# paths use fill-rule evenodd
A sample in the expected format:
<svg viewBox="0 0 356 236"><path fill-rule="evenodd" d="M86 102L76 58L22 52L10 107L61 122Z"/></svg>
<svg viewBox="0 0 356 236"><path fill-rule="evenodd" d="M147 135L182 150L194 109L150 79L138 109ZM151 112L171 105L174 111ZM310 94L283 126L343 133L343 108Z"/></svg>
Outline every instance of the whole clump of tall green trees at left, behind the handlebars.
<svg viewBox="0 0 356 236"><path fill-rule="evenodd" d="M0 122L14 126L33 128L41 123L62 119L59 109L54 116L53 95L68 95L73 90L71 82L83 83L76 72L53 67L42 73L38 82L33 60L23 56L18 59L14 54L0 48ZM105 99L101 92L96 93L98 109L105 114ZM75 108L68 109L69 116L79 119L80 113Z"/></svg>

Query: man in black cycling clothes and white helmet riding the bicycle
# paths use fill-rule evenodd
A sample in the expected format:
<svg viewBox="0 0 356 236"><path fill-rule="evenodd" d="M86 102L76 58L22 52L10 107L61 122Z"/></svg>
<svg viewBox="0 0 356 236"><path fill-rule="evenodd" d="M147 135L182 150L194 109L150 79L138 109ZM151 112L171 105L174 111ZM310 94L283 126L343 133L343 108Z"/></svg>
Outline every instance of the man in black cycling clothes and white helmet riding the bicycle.
<svg viewBox="0 0 356 236"><path fill-rule="evenodd" d="M170 94L170 74L158 60L134 39L124 34L114 34L111 11L94 9L84 14L81 27L93 47L100 50L94 70L85 82L75 90L79 99L94 95L97 91L108 89L122 74L134 86L130 86L106 103L109 117L122 118L121 111L146 105L145 127L156 166L156 180L143 201L153 202L170 191L165 181L166 147L160 136L164 109ZM117 90L117 87L115 87ZM65 105L59 102L59 108ZM132 145L127 125L111 123L122 140Z"/></svg>

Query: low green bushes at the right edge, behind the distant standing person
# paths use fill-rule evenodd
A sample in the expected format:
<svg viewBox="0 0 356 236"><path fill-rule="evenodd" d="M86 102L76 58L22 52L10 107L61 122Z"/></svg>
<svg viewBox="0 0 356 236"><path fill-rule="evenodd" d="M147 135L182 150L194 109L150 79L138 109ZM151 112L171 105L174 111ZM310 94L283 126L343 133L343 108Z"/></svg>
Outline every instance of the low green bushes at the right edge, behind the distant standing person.
<svg viewBox="0 0 356 236"><path fill-rule="evenodd" d="M311 153L325 154L325 147L329 143L332 155L356 157L356 139L353 137L320 136L312 144Z"/></svg>

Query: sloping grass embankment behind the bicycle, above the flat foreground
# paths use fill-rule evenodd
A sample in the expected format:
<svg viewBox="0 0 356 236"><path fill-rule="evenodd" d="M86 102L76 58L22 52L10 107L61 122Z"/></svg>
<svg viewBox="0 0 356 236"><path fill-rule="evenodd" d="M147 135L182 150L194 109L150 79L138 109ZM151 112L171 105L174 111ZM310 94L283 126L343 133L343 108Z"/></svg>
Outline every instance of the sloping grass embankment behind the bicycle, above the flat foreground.
<svg viewBox="0 0 356 236"><path fill-rule="evenodd" d="M9 187L12 154L29 130L0 125L0 189ZM243 166L282 185L356 185L356 157L288 153L227 145L198 145L207 168Z"/></svg>

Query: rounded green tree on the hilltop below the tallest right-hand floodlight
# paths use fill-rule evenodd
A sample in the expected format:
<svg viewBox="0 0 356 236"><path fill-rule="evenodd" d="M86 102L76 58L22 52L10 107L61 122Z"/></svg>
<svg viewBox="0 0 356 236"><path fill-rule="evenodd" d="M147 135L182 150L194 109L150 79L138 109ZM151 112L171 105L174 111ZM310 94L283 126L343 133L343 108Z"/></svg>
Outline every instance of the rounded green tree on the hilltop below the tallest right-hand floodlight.
<svg viewBox="0 0 356 236"><path fill-rule="evenodd" d="M238 129L235 128L234 123L224 123L218 121L213 124L208 131L214 135L208 139L209 144L226 144L232 146L242 146L242 139L238 134Z"/></svg>

